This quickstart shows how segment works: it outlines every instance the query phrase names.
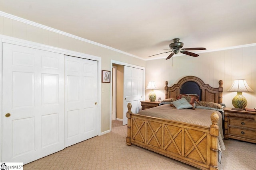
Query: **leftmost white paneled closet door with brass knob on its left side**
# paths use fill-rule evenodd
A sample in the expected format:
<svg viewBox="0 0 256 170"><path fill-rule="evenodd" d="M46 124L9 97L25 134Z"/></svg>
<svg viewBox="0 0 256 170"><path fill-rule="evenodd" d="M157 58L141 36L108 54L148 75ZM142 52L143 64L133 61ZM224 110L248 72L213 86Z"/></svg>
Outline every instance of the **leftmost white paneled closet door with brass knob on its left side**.
<svg viewBox="0 0 256 170"><path fill-rule="evenodd" d="M3 43L2 161L64 149L64 55Z"/></svg>

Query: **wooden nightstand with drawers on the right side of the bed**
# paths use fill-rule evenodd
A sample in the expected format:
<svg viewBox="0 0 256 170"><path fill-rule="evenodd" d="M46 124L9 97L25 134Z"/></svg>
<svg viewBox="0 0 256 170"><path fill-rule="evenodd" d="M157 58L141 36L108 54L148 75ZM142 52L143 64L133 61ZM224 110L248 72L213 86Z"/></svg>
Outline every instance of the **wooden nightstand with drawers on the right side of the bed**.
<svg viewBox="0 0 256 170"><path fill-rule="evenodd" d="M224 139L256 143L256 112L224 108Z"/></svg>

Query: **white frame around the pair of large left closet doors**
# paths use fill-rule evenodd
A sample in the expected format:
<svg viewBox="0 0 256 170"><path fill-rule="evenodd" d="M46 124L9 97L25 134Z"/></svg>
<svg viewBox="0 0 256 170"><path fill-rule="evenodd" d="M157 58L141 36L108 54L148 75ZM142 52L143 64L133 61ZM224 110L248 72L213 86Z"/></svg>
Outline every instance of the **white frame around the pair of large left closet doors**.
<svg viewBox="0 0 256 170"><path fill-rule="evenodd" d="M45 51L51 51L54 53L60 53L60 54L64 54L64 55L69 55L72 57L79 57L79 58L83 58L83 59L89 59L89 60L94 60L97 61L97 70L98 70L98 115L97 115L97 119L98 119L98 136L101 135L101 57L97 57L97 56L93 56L93 55L89 55L89 54L85 54L85 53L80 53L80 52L76 52L76 51L71 51L71 50L67 50L67 49L61 49L61 48L57 48L57 47L52 47L49 45L44 45L44 44L40 44L40 43L35 43L32 41L27 41L27 40L23 40L23 39L18 39L18 38L14 38L14 37L9 37L6 35L0 35L0 126L2 129L2 44L3 43L10 43L10 44L14 44L14 45L21 45L21 46L25 46L25 47L30 47L30 48L35 48L35 49L40 49L40 50L45 50ZM2 130L0 131L0 161L2 161Z"/></svg>

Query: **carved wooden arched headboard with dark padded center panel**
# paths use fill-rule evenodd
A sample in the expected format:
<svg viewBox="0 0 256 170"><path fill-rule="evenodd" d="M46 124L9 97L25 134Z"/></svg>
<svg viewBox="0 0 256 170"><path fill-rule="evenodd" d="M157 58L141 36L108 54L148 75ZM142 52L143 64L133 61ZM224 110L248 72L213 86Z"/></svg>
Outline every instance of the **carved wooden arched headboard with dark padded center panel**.
<svg viewBox="0 0 256 170"><path fill-rule="evenodd" d="M205 84L196 76L186 76L171 87L165 82L165 98L177 98L179 94L198 94L200 101L222 103L223 81L219 81L219 87L213 88Z"/></svg>

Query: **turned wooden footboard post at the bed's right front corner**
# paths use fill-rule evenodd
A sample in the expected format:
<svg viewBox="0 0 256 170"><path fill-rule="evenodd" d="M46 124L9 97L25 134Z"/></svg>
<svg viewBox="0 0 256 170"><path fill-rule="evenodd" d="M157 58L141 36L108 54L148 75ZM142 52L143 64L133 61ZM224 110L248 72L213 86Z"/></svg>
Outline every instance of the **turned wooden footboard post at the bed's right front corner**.
<svg viewBox="0 0 256 170"><path fill-rule="evenodd" d="M218 135L219 135L219 115L217 113L211 114L212 125L210 126L210 135L212 140L211 146L211 162L210 170L218 170Z"/></svg>

